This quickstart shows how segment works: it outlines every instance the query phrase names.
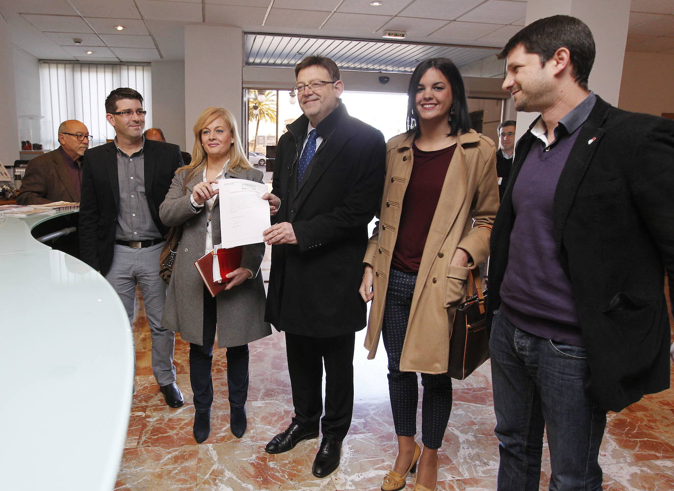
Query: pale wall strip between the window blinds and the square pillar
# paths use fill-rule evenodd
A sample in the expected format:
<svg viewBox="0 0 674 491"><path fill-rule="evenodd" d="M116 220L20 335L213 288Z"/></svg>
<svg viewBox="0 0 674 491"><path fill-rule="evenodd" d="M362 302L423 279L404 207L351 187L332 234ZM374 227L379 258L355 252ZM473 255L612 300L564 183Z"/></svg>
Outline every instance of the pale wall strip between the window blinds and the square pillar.
<svg viewBox="0 0 674 491"><path fill-rule="evenodd" d="M182 61L152 62L152 125L161 128L168 143L180 145L185 152L192 152L185 145L185 63Z"/></svg>

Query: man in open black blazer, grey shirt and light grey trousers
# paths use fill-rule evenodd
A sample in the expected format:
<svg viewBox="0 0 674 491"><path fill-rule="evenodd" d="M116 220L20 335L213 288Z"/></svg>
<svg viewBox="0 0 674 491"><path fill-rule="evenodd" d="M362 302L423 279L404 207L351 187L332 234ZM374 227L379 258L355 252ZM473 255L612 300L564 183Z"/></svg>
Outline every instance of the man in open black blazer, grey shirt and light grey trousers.
<svg viewBox="0 0 674 491"><path fill-rule="evenodd" d="M159 220L159 205L183 159L177 145L144 139L146 110L135 90L113 90L105 110L116 136L84 153L80 254L115 288L131 323L140 286L152 336L152 372L166 404L180 407L174 333L161 325L166 284L159 276L159 254L168 228Z"/></svg>

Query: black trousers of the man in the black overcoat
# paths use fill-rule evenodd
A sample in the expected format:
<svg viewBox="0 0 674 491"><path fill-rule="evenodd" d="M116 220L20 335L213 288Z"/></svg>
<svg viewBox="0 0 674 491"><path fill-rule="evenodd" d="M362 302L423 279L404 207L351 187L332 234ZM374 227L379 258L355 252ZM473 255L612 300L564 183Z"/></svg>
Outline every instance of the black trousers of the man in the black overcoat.
<svg viewBox="0 0 674 491"><path fill-rule="evenodd" d="M286 333L288 372L297 423L306 430L340 442L353 416L353 348L355 333L336 337L309 337ZM323 413L323 367L326 368L326 414Z"/></svg>

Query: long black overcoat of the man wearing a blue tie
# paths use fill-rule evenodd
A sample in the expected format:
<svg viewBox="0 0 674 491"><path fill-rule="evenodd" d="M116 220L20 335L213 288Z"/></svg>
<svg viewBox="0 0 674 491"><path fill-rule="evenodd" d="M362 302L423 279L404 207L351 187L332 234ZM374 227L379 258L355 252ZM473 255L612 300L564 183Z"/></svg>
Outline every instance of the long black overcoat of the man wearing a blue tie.
<svg viewBox="0 0 674 491"><path fill-rule="evenodd" d="M308 125L299 117L278 141L275 222L293 224L299 243L272 248L266 320L281 331L333 337L365 327L358 288L367 224L384 183L386 144L380 131L350 117L340 102L316 128L324 141L297 189Z"/></svg>

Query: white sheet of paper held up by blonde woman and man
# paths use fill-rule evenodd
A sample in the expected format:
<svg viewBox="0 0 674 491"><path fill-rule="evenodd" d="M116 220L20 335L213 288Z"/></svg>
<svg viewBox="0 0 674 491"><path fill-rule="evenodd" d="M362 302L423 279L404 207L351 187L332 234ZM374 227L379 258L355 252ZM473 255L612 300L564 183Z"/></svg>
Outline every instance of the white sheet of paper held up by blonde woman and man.
<svg viewBox="0 0 674 491"><path fill-rule="evenodd" d="M222 247L229 249L262 242L270 228L269 201L262 199L266 184L245 179L218 179Z"/></svg>

